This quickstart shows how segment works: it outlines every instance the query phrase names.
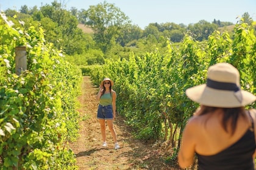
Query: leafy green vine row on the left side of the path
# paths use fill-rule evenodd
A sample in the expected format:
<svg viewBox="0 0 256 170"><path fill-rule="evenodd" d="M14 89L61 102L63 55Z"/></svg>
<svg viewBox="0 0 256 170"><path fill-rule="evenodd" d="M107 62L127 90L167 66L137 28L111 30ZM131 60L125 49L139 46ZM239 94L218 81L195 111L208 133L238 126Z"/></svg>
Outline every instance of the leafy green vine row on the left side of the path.
<svg viewBox="0 0 256 170"><path fill-rule="evenodd" d="M80 70L44 41L0 18L0 168L76 169L66 141L78 135ZM27 70L15 73L15 47L26 46Z"/></svg>

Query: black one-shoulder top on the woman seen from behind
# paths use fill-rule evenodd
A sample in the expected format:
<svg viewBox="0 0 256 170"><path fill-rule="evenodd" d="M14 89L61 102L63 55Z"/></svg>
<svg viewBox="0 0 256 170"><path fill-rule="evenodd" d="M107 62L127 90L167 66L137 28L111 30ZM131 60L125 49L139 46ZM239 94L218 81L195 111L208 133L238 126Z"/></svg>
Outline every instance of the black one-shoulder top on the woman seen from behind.
<svg viewBox="0 0 256 170"><path fill-rule="evenodd" d="M251 127L240 140L218 154L205 156L196 153L199 170L254 170L252 155L255 152L256 145L253 120Z"/></svg>

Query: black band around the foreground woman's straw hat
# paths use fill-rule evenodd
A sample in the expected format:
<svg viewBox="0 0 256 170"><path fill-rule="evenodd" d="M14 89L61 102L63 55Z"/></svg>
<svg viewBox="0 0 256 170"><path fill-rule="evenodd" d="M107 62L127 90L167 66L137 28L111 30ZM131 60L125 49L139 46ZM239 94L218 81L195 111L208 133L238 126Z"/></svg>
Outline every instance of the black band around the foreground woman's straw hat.
<svg viewBox="0 0 256 170"><path fill-rule="evenodd" d="M213 89L229 90L234 92L237 92L240 90L240 88L235 83L219 82L219 81L210 80L209 78L207 78L206 86L211 87Z"/></svg>

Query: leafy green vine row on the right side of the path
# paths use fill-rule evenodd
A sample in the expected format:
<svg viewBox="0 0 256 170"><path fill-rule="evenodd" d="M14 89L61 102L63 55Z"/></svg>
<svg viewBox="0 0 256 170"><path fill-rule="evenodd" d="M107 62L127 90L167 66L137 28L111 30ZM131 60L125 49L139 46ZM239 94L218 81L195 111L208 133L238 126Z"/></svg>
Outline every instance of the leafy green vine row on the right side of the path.
<svg viewBox="0 0 256 170"><path fill-rule="evenodd" d="M241 88L255 94L254 29L242 23L235 25L233 32L231 39L229 33L215 31L204 42L186 35L179 46L168 42L163 54L155 49L140 56L130 55L127 60L106 60L101 69L91 71L91 78L95 84L102 77L115 81L117 109L138 138L169 137L178 151L183 127L199 106L188 100L185 90L205 83L209 66L233 64L240 70ZM255 107L255 103L247 107Z"/></svg>

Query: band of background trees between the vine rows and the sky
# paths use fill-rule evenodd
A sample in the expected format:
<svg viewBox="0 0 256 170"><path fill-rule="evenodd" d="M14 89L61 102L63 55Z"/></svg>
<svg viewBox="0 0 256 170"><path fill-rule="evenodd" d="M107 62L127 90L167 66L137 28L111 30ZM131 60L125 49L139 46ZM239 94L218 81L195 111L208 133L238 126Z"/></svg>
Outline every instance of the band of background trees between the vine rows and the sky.
<svg viewBox="0 0 256 170"><path fill-rule="evenodd" d="M232 22L214 19L213 22L201 20L189 25L155 22L141 29L138 25L130 24L124 12L106 1L91 5L87 10L74 7L66 10L64 6L55 0L39 9L27 5L21 6L18 12L7 9L5 15L17 27L42 27L47 42L62 50L69 61L84 66L104 64L106 58L128 59L130 53L143 55L155 49L165 51L168 46L166 40L179 46L186 34L196 41L204 41L219 27L233 25ZM252 22L248 13L244 13L243 18L244 22ZM87 25L93 33L82 32L78 24Z"/></svg>

